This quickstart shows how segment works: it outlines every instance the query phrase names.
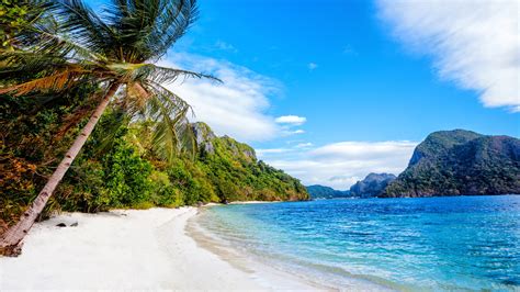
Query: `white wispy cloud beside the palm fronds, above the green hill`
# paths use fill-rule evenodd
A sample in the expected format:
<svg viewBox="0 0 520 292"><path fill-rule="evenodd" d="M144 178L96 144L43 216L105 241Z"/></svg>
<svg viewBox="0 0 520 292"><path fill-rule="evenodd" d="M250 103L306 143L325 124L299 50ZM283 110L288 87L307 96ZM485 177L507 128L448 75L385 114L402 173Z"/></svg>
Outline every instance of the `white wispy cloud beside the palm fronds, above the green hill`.
<svg viewBox="0 0 520 292"><path fill-rule="evenodd" d="M276 80L228 61L190 54L176 54L160 65L213 74L223 80L186 79L166 86L193 106L194 120L206 122L216 134L244 142L283 135L274 117L265 113L269 97L281 91Z"/></svg>

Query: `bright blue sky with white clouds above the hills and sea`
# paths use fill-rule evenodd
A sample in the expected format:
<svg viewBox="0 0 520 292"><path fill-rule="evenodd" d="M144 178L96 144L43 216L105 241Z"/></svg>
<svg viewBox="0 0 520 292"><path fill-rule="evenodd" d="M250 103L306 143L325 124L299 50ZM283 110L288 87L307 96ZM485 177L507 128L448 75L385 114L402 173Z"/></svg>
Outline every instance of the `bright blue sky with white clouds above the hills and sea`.
<svg viewBox="0 0 520 292"><path fill-rule="evenodd" d="M516 1L199 3L200 20L161 63L225 83L170 89L304 183L397 175L439 130L520 136Z"/></svg>

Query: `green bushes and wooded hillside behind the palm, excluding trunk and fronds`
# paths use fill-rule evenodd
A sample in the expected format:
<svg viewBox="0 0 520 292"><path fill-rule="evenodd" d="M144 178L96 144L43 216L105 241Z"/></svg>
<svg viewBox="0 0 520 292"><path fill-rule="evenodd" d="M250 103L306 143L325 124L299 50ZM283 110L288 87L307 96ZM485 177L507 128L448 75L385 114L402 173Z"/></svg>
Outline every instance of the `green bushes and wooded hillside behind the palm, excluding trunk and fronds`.
<svg viewBox="0 0 520 292"><path fill-rule="evenodd" d="M63 124L83 106L71 92L54 104L2 97L0 141L0 229L13 224L34 200L38 190L68 149L84 119L56 139ZM31 109L39 106L34 113ZM263 161L255 150L229 137L216 137L205 124L205 138L196 155L180 156L170 164L150 146L149 121L127 126L120 109L102 116L81 154L45 209L99 212L110 209L177 207L199 202L247 200L306 200L306 189L296 179ZM207 146L207 147L204 147Z"/></svg>

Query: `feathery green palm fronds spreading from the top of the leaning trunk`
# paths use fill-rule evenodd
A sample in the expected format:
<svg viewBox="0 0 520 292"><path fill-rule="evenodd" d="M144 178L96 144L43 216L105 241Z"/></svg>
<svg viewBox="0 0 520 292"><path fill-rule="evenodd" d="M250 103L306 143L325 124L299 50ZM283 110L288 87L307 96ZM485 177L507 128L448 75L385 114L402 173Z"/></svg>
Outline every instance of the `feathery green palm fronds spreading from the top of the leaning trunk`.
<svg viewBox="0 0 520 292"><path fill-rule="evenodd" d="M152 146L165 160L192 153L190 105L165 83L212 76L155 63L195 21L195 0L114 1L99 12L84 0L2 1L2 36L15 43L0 50L0 93L55 94L89 85L97 94L88 114L109 89L129 121L152 121ZM35 22L35 20L38 20ZM18 24L20 22L20 24ZM16 49L14 49L16 48Z"/></svg>

